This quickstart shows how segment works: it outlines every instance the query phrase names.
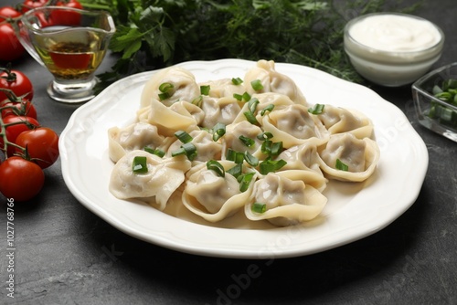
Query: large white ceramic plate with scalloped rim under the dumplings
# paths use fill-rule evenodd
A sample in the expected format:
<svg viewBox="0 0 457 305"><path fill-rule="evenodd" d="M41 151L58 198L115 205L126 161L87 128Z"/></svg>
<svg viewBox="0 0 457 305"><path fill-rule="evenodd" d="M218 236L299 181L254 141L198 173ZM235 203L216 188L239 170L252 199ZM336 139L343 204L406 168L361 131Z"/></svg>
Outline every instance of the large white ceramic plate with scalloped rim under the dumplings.
<svg viewBox="0 0 457 305"><path fill-rule="evenodd" d="M239 59L180 64L198 82L244 77L256 63ZM388 226L420 192L429 156L402 111L374 91L314 68L276 63L309 103L330 103L366 113L375 124L381 158L364 184L331 182L322 216L303 226L277 228L244 223L205 224L183 210L170 216L154 207L116 199L108 190L113 163L107 130L125 126L139 108L143 84L155 73L122 79L71 116L60 136L62 174L71 193L102 219L144 241L210 257L289 258L324 251L367 237Z"/></svg>

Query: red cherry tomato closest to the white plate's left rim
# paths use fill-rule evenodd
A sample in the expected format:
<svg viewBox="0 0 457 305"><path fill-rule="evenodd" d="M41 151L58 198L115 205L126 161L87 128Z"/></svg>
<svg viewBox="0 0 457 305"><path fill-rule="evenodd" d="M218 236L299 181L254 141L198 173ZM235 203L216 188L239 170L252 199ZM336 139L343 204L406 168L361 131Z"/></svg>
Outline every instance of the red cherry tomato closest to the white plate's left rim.
<svg viewBox="0 0 457 305"><path fill-rule="evenodd" d="M45 169L58 159L58 134L48 127L24 131L16 138L16 144L27 147L27 154L32 162ZM16 148L17 153L23 153Z"/></svg>

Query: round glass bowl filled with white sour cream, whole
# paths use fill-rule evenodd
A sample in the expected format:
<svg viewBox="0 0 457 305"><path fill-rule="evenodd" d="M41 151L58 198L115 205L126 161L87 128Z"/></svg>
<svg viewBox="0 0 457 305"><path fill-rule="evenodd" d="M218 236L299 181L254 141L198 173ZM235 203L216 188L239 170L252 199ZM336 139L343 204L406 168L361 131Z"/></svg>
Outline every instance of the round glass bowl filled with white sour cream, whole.
<svg viewBox="0 0 457 305"><path fill-rule="evenodd" d="M418 16L375 13L345 26L345 53L365 79L386 87L410 84L441 57L441 28Z"/></svg>

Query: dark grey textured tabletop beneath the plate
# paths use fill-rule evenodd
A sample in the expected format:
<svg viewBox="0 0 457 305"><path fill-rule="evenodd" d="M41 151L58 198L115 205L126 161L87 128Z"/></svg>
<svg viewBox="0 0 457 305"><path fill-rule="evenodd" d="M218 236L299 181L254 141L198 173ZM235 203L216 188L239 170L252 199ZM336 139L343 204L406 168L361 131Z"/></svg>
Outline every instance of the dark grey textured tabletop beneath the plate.
<svg viewBox="0 0 457 305"><path fill-rule="evenodd" d="M455 1L425 1L416 14L445 32L434 67L457 61ZM103 68L109 64L107 58ZM51 76L32 59L14 67L34 83L39 120L62 131L75 107L48 99ZM417 201L385 229L300 258L198 257L127 236L90 213L69 193L58 161L37 198L15 206L14 300L6 295L6 200L0 197L0 303L456 304L457 143L420 126L409 86L372 89L407 114L430 155ZM251 268L255 276L248 276Z"/></svg>

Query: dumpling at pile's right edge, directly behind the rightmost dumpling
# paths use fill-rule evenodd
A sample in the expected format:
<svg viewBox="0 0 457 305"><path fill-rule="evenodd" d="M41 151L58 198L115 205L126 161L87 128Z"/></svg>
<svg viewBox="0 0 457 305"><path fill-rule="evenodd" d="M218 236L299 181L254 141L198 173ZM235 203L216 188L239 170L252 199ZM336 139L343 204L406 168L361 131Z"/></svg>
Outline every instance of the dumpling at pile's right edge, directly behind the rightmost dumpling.
<svg viewBox="0 0 457 305"><path fill-rule="evenodd" d="M330 134L350 132L358 139L371 138L373 134L371 120L356 110L324 105L322 113L316 116L324 123Z"/></svg>

